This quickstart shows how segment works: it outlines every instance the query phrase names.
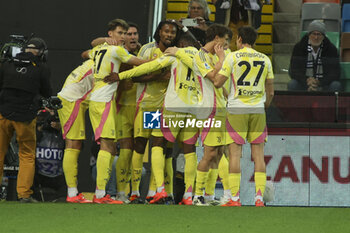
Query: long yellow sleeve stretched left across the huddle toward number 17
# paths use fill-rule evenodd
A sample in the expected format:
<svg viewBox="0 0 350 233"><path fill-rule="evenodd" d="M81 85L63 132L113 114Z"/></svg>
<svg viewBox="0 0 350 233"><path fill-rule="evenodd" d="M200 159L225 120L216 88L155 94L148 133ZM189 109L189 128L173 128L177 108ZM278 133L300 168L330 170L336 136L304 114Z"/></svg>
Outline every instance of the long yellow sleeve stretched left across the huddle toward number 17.
<svg viewBox="0 0 350 233"><path fill-rule="evenodd" d="M119 79L123 80L123 79L145 75L147 73L152 73L153 71L160 70L162 68L165 68L171 65L175 61L175 59L176 58L173 56L162 56L160 58L157 58L156 60L144 63L131 70L121 72L119 74Z"/></svg>

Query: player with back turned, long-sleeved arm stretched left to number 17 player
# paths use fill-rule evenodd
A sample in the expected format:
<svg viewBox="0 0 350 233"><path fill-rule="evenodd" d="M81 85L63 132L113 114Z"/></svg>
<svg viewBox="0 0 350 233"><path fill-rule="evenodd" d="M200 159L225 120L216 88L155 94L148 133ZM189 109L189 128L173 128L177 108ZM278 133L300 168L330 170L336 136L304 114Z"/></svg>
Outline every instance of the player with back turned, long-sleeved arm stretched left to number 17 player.
<svg viewBox="0 0 350 233"><path fill-rule="evenodd" d="M189 194L183 200L182 204L188 204L188 202L192 204L192 188L197 165L194 145L197 141L198 129L194 124L191 126L190 122L195 121L195 116L191 114L191 111L196 107L198 98L201 98L198 96L198 80L196 80L192 72L193 57L198 52L196 48L192 47L195 43L195 39L190 35L182 35L178 41L178 45L182 49L177 49L176 47L170 48L172 50L171 53L179 53L181 55L181 60L173 56L162 56L152 62L119 74L120 78L124 79L171 66L171 78L162 109L162 123L160 129L154 129L152 132L152 169L158 192L155 194L153 200L150 201L151 204L161 202L167 196L164 188L161 189L164 183L164 155L162 145L166 140L175 142L176 139L183 143L186 158L185 184ZM170 49L167 49L166 53L169 53ZM176 125L174 125L174 122L176 122ZM181 126L180 124L183 125ZM193 168L191 169L191 167Z"/></svg>

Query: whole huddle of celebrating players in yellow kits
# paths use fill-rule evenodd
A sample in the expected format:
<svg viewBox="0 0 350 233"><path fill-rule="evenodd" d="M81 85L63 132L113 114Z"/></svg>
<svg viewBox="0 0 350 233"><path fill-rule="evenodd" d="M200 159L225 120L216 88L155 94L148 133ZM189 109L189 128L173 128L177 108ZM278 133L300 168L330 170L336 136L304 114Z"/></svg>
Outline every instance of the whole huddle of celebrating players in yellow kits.
<svg viewBox="0 0 350 233"><path fill-rule="evenodd" d="M269 58L252 48L256 31L241 27L235 52L228 49L232 31L220 24L209 26L203 46L188 28L174 20L160 22L155 41L142 47L137 25L121 19L108 23L108 36L92 42L93 48L83 53L88 60L72 71L58 93L63 104L58 113L66 141L66 201L141 203L143 156L151 139L148 203L172 198L172 157L167 147L178 143L185 157L185 192L180 204L241 206L240 158L242 145L248 141L255 164L255 205L264 206L265 108L272 101L274 89ZM92 201L77 189L87 109L95 140L100 144ZM145 127L147 113L160 119L159 127ZM198 138L204 156L197 165ZM117 141L118 193L112 198L105 189ZM218 173L225 190L221 202L214 199Z"/></svg>

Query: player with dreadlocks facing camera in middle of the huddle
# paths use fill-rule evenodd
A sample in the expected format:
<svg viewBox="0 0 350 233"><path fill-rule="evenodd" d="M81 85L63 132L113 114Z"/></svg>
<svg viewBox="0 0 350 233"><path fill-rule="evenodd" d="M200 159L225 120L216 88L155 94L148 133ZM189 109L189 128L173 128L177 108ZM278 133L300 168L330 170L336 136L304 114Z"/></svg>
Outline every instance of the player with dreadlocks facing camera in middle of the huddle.
<svg viewBox="0 0 350 233"><path fill-rule="evenodd" d="M155 41L142 46L139 51L138 57L141 59L155 59L162 56L163 52L168 47L174 45L177 33L178 27L173 21L160 22L153 36ZM148 80L148 82L137 84L136 115L134 118L135 141L134 151L132 155L131 173L132 193L130 200L132 202L137 202L140 199L139 185L141 180L143 155L145 153L147 141L151 136L152 132L152 129L144 128L143 115L146 111L157 111L162 108L165 91L168 86L169 76L169 71L161 73L158 72L154 74L153 79ZM170 159L168 159L169 162ZM170 170L169 173L172 173L172 164L169 162L167 162L167 168L169 168ZM171 178L172 174L169 174L169 177ZM150 190L147 196L153 196L155 194L153 192L153 190Z"/></svg>

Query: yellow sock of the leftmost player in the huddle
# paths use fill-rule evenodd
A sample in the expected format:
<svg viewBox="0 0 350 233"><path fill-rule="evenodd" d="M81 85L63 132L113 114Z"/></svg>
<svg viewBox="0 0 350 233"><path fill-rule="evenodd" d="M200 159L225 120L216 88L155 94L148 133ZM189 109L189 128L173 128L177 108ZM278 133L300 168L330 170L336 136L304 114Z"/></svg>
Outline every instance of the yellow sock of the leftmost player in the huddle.
<svg viewBox="0 0 350 233"><path fill-rule="evenodd" d="M66 183L69 188L78 186L78 157L80 150L67 148L64 150L63 156L63 172L66 178Z"/></svg>

